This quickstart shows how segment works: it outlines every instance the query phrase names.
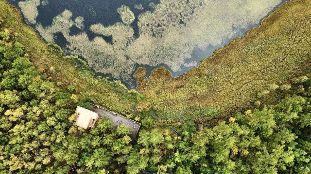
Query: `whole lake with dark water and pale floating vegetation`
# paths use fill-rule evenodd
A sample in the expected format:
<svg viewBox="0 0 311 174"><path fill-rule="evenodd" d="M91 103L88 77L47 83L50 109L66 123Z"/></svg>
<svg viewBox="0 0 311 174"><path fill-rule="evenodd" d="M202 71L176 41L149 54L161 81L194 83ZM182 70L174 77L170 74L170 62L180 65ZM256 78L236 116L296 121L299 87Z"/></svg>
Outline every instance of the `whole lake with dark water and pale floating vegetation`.
<svg viewBox="0 0 311 174"><path fill-rule="evenodd" d="M185 73L286 0L8 1L47 42L133 88L138 67Z"/></svg>

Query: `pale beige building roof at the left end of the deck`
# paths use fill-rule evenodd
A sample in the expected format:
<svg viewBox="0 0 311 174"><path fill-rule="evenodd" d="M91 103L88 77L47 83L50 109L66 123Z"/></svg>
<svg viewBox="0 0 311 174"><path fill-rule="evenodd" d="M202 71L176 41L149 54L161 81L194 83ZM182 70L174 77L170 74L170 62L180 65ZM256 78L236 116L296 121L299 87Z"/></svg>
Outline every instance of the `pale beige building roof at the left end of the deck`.
<svg viewBox="0 0 311 174"><path fill-rule="evenodd" d="M88 124L92 119L98 118L97 113L90 111L88 109L85 109L83 107L80 107L80 106L77 107L76 113L79 114L79 117L76 120L76 125L84 129L87 129Z"/></svg>

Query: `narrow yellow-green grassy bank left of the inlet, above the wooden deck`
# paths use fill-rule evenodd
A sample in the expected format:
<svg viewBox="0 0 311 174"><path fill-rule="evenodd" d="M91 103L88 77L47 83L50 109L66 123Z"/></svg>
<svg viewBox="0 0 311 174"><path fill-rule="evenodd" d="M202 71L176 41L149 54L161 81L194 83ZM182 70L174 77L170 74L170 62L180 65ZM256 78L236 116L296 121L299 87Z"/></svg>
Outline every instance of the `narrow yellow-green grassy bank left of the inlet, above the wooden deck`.
<svg viewBox="0 0 311 174"><path fill-rule="evenodd" d="M141 98L138 92L127 90L118 81L95 78L88 70L71 66L66 58L51 51L34 29L24 25L18 9L5 0L0 0L0 11L3 20L0 29L7 29L14 41L25 45L31 61L52 81L64 88L72 85L80 100L91 99L125 115L133 113L132 106Z"/></svg>

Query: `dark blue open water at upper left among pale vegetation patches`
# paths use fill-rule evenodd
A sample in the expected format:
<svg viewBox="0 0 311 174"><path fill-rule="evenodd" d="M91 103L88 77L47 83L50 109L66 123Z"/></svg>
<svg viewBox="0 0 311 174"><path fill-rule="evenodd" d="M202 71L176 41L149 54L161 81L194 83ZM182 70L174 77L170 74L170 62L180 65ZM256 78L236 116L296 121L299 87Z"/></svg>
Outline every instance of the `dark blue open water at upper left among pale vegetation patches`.
<svg viewBox="0 0 311 174"><path fill-rule="evenodd" d="M23 0L8 0L11 4L18 7L18 2ZM72 19L77 16L84 18L84 31L86 31L89 39L93 39L98 36L90 31L90 26L96 23L102 23L104 26L113 25L116 22L122 22L120 14L117 13L117 9L121 5L127 5L131 11L138 16L145 11L153 11L153 8L149 6L150 2L155 4L159 0L49 0L49 3L45 6L38 6L38 16L36 22L40 23L43 27L52 25L53 18L64 12L65 9L72 12ZM142 4L143 10L134 8L135 4ZM135 31L135 36L138 37L138 19L131 24ZM32 25L35 28L35 25ZM72 27L71 34L77 34L81 32L77 27ZM109 38L104 38L109 41ZM59 45L66 44L66 40L57 39L55 42Z"/></svg>

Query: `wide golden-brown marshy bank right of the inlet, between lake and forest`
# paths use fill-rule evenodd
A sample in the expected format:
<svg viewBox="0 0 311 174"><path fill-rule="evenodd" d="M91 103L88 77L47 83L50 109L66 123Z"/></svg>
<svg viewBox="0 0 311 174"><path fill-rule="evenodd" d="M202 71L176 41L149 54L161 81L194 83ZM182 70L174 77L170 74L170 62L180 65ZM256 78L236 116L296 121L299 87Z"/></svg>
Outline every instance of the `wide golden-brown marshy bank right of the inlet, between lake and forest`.
<svg viewBox="0 0 311 174"><path fill-rule="evenodd" d="M311 0L291 0L259 27L177 78L168 77L167 70L160 68L147 82L140 69L135 76L146 101L138 109L153 108L158 116L179 116L182 108L185 113L187 108L213 107L219 110L219 116L228 116L257 100L273 103L282 90L274 92L271 86L286 85L293 77L310 72L310 40ZM269 100L265 99L267 93ZM202 116L195 119L206 121Z"/></svg>

